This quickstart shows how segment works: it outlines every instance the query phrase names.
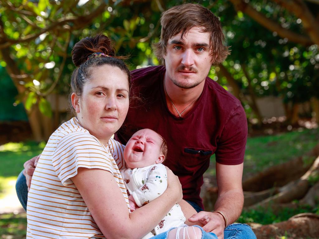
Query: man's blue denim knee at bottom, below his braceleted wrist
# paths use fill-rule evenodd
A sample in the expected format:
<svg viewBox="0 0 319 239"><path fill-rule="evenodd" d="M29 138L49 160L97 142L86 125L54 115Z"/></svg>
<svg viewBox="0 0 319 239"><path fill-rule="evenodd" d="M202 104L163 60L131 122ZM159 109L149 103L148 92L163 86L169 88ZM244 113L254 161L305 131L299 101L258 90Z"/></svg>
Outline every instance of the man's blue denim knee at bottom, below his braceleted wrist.
<svg viewBox="0 0 319 239"><path fill-rule="evenodd" d="M256 235L247 224L234 223L225 228L224 239L256 239Z"/></svg>

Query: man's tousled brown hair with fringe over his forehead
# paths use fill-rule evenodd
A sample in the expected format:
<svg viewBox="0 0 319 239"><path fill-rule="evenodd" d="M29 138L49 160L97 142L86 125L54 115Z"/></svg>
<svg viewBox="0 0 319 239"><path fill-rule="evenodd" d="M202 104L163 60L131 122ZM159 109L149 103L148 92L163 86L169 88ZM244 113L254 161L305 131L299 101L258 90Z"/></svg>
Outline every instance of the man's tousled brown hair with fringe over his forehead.
<svg viewBox="0 0 319 239"><path fill-rule="evenodd" d="M182 33L181 39L183 39L185 34L195 26L203 32L211 33L210 48L213 50L211 54L213 65L223 62L230 54L229 47L223 45L225 36L218 17L202 5L188 3L174 6L162 13L160 22L162 25L160 40L153 44L153 48L163 64L168 39L178 33Z"/></svg>

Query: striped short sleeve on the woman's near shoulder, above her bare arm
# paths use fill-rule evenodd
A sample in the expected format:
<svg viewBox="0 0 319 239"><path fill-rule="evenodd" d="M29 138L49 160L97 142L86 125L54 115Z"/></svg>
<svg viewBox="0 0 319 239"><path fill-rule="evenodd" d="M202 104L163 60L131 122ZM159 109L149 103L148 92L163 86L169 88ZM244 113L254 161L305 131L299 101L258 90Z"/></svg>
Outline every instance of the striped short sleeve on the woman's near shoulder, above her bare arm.
<svg viewBox="0 0 319 239"><path fill-rule="evenodd" d="M52 156L53 167L63 185L68 185L67 180L77 175L80 167L104 169L112 174L114 172L106 148L92 135L82 132L63 136Z"/></svg>

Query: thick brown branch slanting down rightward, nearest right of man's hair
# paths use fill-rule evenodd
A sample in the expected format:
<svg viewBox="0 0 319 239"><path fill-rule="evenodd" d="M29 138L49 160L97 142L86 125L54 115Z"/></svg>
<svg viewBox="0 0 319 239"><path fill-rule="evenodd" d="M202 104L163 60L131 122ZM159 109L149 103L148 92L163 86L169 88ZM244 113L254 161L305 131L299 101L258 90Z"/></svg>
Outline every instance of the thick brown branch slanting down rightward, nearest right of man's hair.
<svg viewBox="0 0 319 239"><path fill-rule="evenodd" d="M294 33L288 29L283 28L280 24L275 22L274 20L271 20L270 18L267 18L262 13L256 11L253 7L251 7L249 4L245 3L242 0L230 0L237 11L242 11L246 13L250 18L254 19L256 22L258 22L263 27L267 28L268 30L272 32L277 32L278 35L282 38L288 38L290 41L302 44L304 46L310 46L314 44L314 42L307 36L300 35L297 33Z"/></svg>

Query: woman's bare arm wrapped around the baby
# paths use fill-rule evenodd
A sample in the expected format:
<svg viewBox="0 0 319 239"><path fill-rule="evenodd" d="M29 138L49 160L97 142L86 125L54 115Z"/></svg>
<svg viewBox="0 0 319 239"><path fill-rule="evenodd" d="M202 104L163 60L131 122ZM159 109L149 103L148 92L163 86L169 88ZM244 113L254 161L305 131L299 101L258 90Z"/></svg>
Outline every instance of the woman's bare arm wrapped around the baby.
<svg viewBox="0 0 319 239"><path fill-rule="evenodd" d="M128 205L113 175L101 169L79 168L72 181L94 221L108 238L141 238L150 232L182 199L178 177L167 170L169 185L157 199L129 214Z"/></svg>

